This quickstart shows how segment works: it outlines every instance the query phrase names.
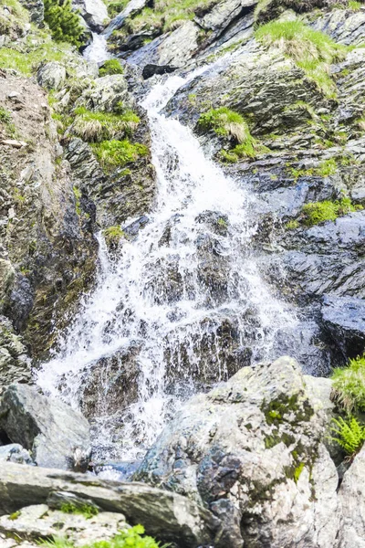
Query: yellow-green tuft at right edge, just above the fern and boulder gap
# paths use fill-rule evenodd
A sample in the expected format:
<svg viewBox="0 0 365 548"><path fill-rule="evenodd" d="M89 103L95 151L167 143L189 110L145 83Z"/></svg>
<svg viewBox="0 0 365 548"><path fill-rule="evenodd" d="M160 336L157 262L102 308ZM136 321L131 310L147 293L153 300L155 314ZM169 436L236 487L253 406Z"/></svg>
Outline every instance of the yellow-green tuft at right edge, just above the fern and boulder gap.
<svg viewBox="0 0 365 548"><path fill-rule="evenodd" d="M365 411L365 354L332 373L332 397L346 411Z"/></svg>

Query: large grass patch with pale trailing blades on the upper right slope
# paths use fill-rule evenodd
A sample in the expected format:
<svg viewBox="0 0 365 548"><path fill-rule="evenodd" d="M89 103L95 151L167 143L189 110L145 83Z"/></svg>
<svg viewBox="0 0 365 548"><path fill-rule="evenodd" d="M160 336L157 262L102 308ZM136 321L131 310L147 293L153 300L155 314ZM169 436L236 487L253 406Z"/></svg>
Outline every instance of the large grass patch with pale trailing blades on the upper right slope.
<svg viewBox="0 0 365 548"><path fill-rule="evenodd" d="M336 97L336 84L329 67L343 58L346 47L336 44L328 35L313 30L299 20L272 21L259 26L255 38L265 46L280 48L293 58L308 78L313 79L328 97Z"/></svg>

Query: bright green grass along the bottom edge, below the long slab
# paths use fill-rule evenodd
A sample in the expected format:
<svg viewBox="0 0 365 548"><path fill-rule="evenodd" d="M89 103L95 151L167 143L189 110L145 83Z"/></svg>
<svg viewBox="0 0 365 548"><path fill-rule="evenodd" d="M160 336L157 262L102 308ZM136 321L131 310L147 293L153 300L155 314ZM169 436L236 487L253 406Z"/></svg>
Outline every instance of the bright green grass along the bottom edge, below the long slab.
<svg viewBox="0 0 365 548"><path fill-rule="evenodd" d="M44 541L40 545L47 548L75 548L73 543L63 538ZM142 525L135 525L120 531L113 539L84 544L83 548L168 548L168 546L168 544L162 546L151 536L145 536Z"/></svg>

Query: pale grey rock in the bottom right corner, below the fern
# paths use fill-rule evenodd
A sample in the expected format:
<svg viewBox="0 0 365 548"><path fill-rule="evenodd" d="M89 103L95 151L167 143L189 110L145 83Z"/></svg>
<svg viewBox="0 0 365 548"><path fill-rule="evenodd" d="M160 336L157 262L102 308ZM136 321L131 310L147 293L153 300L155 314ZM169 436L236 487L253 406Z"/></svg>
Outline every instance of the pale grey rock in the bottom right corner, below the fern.
<svg viewBox="0 0 365 548"><path fill-rule="evenodd" d="M365 446L354 458L339 488L343 521L339 548L365 547Z"/></svg>

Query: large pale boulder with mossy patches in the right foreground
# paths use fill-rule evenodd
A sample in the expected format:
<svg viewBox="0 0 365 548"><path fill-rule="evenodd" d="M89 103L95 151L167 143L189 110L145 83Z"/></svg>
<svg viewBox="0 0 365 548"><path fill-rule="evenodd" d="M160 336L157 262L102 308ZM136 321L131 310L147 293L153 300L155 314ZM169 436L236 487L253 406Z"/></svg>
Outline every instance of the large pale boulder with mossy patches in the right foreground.
<svg viewBox="0 0 365 548"><path fill-rule="evenodd" d="M136 478L208 506L226 545L333 547L338 476L321 407L289 358L241 369L183 408Z"/></svg>

